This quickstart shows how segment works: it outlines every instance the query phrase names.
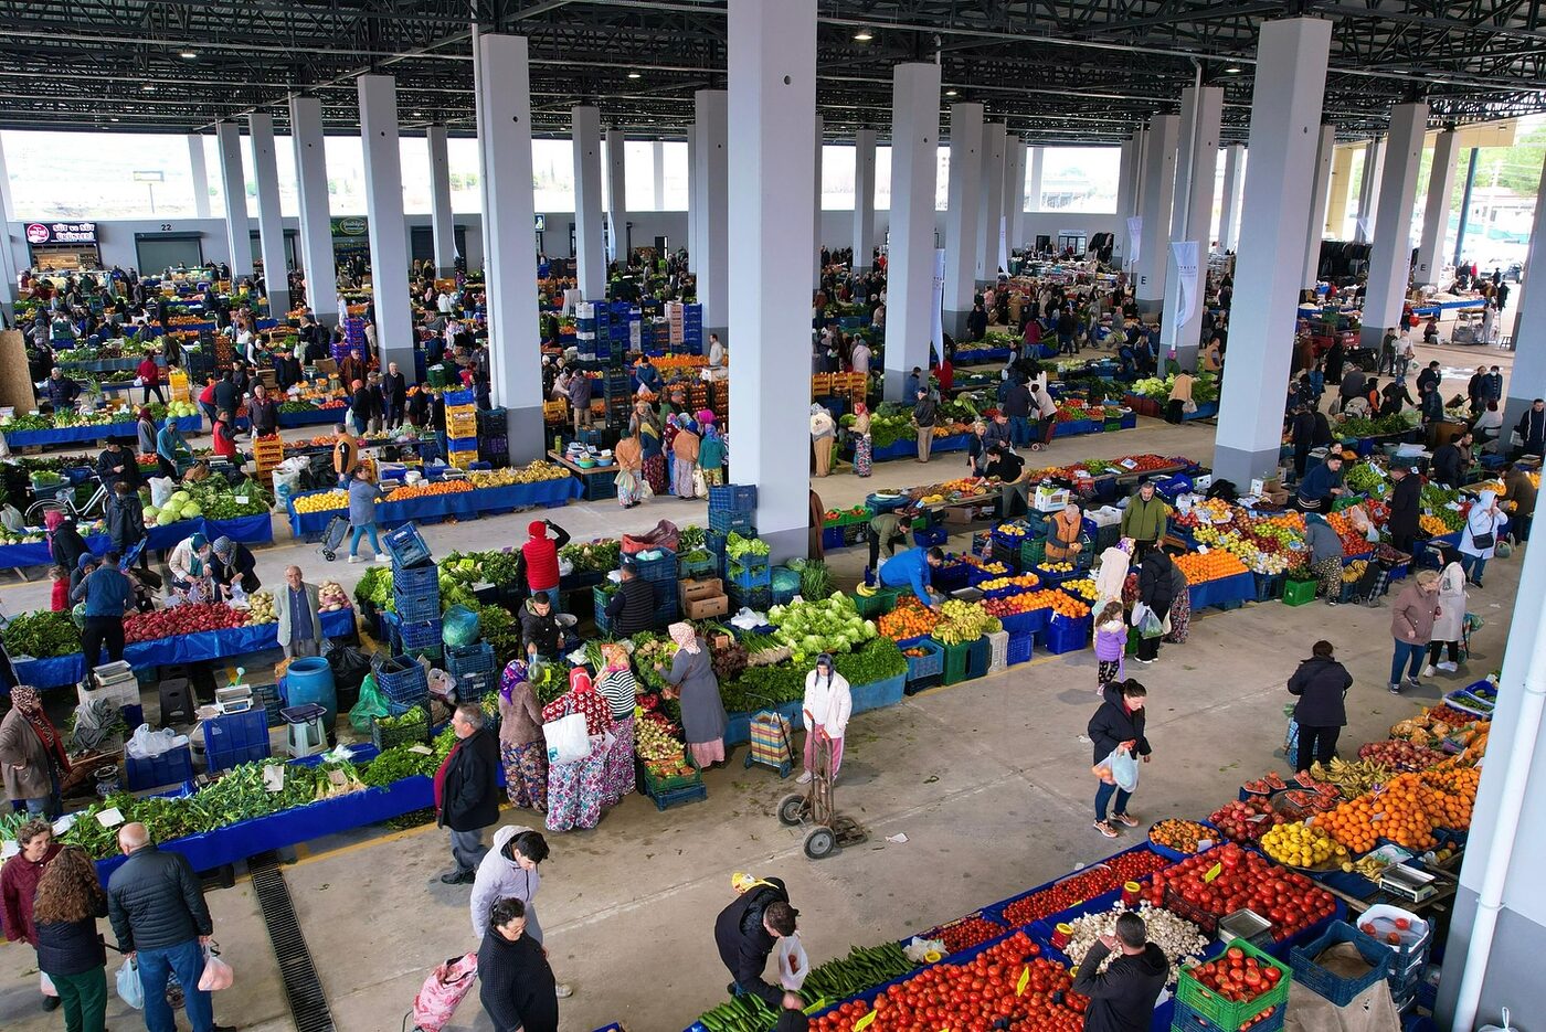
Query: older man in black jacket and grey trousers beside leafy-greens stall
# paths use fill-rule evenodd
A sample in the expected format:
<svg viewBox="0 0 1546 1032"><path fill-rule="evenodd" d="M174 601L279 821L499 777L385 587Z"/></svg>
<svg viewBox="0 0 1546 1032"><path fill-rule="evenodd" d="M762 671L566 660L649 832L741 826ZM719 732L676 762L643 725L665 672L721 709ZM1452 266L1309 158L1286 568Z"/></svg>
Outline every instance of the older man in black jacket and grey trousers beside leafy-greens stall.
<svg viewBox="0 0 1546 1032"><path fill-rule="evenodd" d="M484 728L482 709L462 703L451 717L456 745L434 774L434 808L451 833L456 870L441 874L447 885L470 885L489 851L482 830L499 822L499 742Z"/></svg>

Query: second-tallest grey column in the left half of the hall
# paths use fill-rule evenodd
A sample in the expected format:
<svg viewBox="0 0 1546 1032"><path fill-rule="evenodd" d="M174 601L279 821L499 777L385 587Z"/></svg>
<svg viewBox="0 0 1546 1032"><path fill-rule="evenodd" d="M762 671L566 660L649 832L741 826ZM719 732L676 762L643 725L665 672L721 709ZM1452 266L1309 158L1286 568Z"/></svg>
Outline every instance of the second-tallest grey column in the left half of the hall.
<svg viewBox="0 0 1546 1032"><path fill-rule="evenodd" d="M408 222L402 215L402 153L397 150L397 80L360 76L359 91L376 351L382 366L396 362L404 375L411 375L413 314L408 306Z"/></svg>

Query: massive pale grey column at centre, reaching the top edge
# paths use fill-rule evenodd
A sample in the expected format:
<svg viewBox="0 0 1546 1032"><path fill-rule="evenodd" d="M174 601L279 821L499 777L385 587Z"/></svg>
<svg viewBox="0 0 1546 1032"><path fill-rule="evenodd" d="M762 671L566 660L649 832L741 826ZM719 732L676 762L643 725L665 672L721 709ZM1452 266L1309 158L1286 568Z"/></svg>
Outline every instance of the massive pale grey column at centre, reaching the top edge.
<svg viewBox="0 0 1546 1032"><path fill-rule="evenodd" d="M727 23L730 411L748 428L736 477L758 485L758 533L778 562L810 542L810 269L790 256L815 244L816 0L730 0Z"/></svg>

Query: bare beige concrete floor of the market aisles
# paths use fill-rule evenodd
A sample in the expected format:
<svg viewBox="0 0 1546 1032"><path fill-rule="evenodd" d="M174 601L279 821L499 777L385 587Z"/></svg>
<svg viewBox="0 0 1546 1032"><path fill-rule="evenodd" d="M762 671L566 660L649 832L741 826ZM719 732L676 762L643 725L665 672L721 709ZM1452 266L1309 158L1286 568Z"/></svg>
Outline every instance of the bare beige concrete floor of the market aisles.
<svg viewBox="0 0 1546 1032"><path fill-rule="evenodd" d="M1470 363L1480 349L1463 349ZM1498 365L1506 352L1489 349ZM1449 363L1449 355L1436 354ZM1427 355L1422 358L1427 360ZM1464 358L1461 360L1464 362ZM1461 365L1456 362L1455 365ZM1133 451L1207 460L1211 426L1141 420L1136 431L1062 439L1045 460L1113 457ZM877 467L860 480L836 474L815 482L829 507L861 501L877 487L904 487L959 476L962 456L940 456L929 470L912 462ZM702 504L662 501L623 524L609 504L570 505L555 516L577 539L645 528L656 519L703 522ZM513 514L427 530L438 553L455 547L516 544L529 516ZM492 533L490 533L492 531ZM283 531L281 531L283 533ZM963 547L965 535L952 539ZM298 562L308 578L352 584L363 567L325 564L311 547L289 542L260 552L260 575L277 582ZM847 576L860 550L830 556ZM1487 589L1470 609L1487 624L1473 638L1469 669L1439 677L1419 697L1390 697L1388 609L1277 603L1194 616L1186 646L1166 646L1153 667L1135 667L1150 689L1150 740L1133 813L1144 820L1206 817L1235 786L1268 769L1288 771L1282 748L1289 701L1283 683L1309 643L1326 637L1356 678L1343 743L1384 738L1396 720L1432 704L1441 692L1497 669L1503 660L1520 556L1495 562ZM46 586L0 589L11 612L46 604ZM540 896L553 967L575 986L561 1006L564 1032L621 1020L634 1032L685 1027L724 996L725 972L713 949L713 918L731 899L730 873L750 870L788 881L802 910L802 936L813 962L855 942L923 932L972 908L1099 859L1135 840L1108 842L1090 828L1090 746L1082 740L1096 708L1091 652L1037 655L1030 664L979 681L937 689L853 720L839 806L870 833L869 844L812 864L799 836L773 817L790 782L764 768L742 769L736 749L727 769L707 776L708 800L657 813L629 797L592 831L550 837ZM506 811L507 823L530 814ZM887 836L904 833L906 844ZM351 833L309 844L284 868L312 958L345 1032L397 1029L425 973L447 956L475 949L467 888L441 885L448 865L444 833ZM209 893L216 935L237 969L235 986L216 998L221 1021L243 1029L294 1027L278 987L267 935L246 881ZM651 959L643 959L643 958ZM669 959L652 959L669 958ZM110 966L111 967L111 966ZM0 949L0 1027L57 1029L59 1017L36 1003L32 952ZM110 1023L138 1027L116 1000ZM455 1029L487 1029L476 1001Z"/></svg>

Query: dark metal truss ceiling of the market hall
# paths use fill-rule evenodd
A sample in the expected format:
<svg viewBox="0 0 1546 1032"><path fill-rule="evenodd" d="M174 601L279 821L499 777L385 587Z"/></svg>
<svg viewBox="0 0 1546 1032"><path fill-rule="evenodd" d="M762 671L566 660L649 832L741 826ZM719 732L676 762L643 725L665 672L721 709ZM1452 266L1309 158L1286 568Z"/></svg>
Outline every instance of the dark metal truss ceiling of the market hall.
<svg viewBox="0 0 1546 1032"><path fill-rule="evenodd" d="M892 66L943 66L942 107L983 104L1031 142L1116 142L1175 113L1201 71L1245 142L1263 20L1334 22L1325 117L1384 133L1425 97L1430 127L1546 111L1541 0L819 0L816 104L833 139L884 134ZM359 131L354 77L396 76L404 128L475 134L470 19L530 40L533 131L601 107L638 137L680 136L693 93L725 85L725 0L104 0L0 3L0 127L201 131L292 93Z"/></svg>

